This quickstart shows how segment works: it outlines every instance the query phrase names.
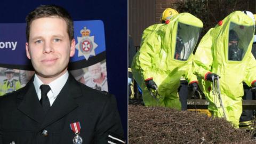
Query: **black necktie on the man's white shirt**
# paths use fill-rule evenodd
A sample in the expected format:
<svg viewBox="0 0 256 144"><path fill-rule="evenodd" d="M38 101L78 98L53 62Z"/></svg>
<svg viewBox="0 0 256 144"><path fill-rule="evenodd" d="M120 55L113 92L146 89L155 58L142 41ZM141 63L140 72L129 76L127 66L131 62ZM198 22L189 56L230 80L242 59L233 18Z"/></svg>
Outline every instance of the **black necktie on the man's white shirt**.
<svg viewBox="0 0 256 144"><path fill-rule="evenodd" d="M40 103L45 111L45 113L50 109L50 101L47 97L47 93L51 90L51 87L49 85L42 84L40 86L41 89L41 100Z"/></svg>

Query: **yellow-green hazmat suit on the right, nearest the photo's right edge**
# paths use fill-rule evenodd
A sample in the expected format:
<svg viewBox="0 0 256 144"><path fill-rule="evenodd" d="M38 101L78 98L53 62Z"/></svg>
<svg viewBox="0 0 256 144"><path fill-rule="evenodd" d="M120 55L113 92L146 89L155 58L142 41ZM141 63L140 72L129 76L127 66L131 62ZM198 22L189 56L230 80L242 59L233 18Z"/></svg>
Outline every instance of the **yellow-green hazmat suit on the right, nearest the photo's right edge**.
<svg viewBox="0 0 256 144"><path fill-rule="evenodd" d="M209 101L214 117L225 117L238 127L242 113L243 83L251 86L256 79L256 61L251 53L254 23L241 11L229 14L201 39L195 53L193 71ZM222 106L213 83L205 81L209 73L219 79ZM225 112L223 112L223 110Z"/></svg>

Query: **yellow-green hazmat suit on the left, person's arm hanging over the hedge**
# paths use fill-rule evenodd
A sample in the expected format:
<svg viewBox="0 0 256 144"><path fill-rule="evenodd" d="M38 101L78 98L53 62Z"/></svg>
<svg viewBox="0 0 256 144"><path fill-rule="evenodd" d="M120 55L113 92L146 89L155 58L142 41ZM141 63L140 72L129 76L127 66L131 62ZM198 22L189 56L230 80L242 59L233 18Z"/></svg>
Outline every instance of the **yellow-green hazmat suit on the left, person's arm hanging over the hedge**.
<svg viewBox="0 0 256 144"><path fill-rule="evenodd" d="M197 81L192 73L193 50L203 23L189 13L174 15L168 24L158 24L146 38L133 58L132 73L141 86L146 106L165 106L181 109L178 97L180 77ZM159 101L151 97L145 79L154 78Z"/></svg>

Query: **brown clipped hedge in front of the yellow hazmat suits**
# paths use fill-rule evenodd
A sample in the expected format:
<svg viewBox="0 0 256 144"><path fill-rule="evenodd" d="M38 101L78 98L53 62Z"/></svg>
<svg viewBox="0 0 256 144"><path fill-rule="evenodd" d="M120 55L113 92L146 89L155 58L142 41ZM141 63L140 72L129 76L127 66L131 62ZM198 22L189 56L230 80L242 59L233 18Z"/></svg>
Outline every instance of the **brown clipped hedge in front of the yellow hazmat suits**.
<svg viewBox="0 0 256 144"><path fill-rule="evenodd" d="M193 111L129 105L129 143L256 143L223 118Z"/></svg>

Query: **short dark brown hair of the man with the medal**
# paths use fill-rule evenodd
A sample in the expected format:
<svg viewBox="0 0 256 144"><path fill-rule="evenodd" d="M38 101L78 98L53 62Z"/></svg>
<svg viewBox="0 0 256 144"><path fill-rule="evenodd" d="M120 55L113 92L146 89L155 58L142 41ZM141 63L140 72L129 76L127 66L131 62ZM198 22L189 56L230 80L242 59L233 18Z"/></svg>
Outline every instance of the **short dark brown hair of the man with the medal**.
<svg viewBox="0 0 256 144"><path fill-rule="evenodd" d="M26 17L27 42L29 41L30 25L33 22L33 20L36 20L39 18L52 17L52 16L64 19L67 23L67 33L70 41L74 38L74 24L68 11L65 10L63 7L56 6L56 5L41 5L41 6L38 6L35 10L31 11Z"/></svg>

